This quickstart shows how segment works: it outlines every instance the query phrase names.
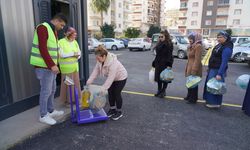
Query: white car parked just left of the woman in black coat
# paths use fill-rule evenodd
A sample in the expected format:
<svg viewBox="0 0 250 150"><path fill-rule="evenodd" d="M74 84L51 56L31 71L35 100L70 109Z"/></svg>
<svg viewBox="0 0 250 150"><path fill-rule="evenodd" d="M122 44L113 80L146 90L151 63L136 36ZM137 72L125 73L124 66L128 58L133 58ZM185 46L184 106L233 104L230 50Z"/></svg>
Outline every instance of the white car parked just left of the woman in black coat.
<svg viewBox="0 0 250 150"><path fill-rule="evenodd" d="M148 38L134 38L128 42L128 49L132 51L133 49L140 49L142 51L150 50L151 42Z"/></svg>

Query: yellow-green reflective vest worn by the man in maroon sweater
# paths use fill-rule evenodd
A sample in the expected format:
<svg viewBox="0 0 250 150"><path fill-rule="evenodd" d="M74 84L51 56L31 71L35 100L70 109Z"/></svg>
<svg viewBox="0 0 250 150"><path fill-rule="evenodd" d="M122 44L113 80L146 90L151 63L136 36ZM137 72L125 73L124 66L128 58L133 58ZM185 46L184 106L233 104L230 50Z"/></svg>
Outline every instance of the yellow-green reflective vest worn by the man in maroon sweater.
<svg viewBox="0 0 250 150"><path fill-rule="evenodd" d="M48 23L42 23L47 29L48 32L48 40L47 40L47 48L48 48L48 53L53 60L53 62L57 65L57 59L58 59L58 44L57 44L57 39L55 37L55 34L50 27ZM38 25L40 26L40 25ZM37 26L37 27L38 27ZM34 32L34 38L33 38L33 43L32 43L32 49L31 49L31 54L30 54L30 64L34 66L39 66L39 67L48 67L41 56L41 53L39 51L39 46L38 46L38 35L37 35L37 27Z"/></svg>

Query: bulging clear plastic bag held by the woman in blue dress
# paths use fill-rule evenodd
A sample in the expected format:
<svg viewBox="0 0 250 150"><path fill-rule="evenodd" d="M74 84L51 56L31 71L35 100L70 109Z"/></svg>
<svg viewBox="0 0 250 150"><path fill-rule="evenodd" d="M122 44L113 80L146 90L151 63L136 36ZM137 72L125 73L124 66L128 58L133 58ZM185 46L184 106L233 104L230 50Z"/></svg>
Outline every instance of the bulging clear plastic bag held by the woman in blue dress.
<svg viewBox="0 0 250 150"><path fill-rule="evenodd" d="M212 78L207 82L207 91L215 95L223 95L227 91L226 84L225 82Z"/></svg>

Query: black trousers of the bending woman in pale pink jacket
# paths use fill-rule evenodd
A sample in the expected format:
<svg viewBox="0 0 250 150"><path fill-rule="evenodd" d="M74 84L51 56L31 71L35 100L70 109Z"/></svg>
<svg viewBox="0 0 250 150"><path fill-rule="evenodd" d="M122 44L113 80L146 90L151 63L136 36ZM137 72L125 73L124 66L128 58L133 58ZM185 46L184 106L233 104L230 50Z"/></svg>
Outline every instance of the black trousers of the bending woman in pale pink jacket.
<svg viewBox="0 0 250 150"><path fill-rule="evenodd" d="M122 89L126 84L127 79L121 81L114 81L110 88L108 89L109 93L109 105L110 107L116 106L117 109L122 108Z"/></svg>

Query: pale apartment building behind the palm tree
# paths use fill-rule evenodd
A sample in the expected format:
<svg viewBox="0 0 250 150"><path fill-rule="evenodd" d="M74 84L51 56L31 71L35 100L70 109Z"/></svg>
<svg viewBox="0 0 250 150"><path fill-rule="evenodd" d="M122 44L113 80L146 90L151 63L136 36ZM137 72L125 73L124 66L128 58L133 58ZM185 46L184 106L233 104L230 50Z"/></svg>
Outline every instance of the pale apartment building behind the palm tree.
<svg viewBox="0 0 250 150"><path fill-rule="evenodd" d="M100 32L101 15L91 7L92 0L87 0L88 4L88 31L91 35ZM131 1L130 0L111 0L110 7L103 15L103 23L115 25L115 32L120 36L131 24Z"/></svg>

